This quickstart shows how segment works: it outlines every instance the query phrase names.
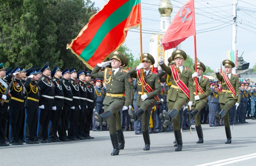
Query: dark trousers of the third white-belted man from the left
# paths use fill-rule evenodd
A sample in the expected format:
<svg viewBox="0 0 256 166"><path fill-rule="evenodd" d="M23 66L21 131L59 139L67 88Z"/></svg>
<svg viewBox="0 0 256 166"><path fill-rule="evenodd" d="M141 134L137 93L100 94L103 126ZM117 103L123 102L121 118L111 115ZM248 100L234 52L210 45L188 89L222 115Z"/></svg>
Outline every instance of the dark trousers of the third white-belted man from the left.
<svg viewBox="0 0 256 166"><path fill-rule="evenodd" d="M62 114L61 114L61 118L60 118L60 125L58 127L59 139L65 139L67 137L66 130L68 127L70 110L71 110L71 106L64 103L64 107L62 109Z"/></svg>

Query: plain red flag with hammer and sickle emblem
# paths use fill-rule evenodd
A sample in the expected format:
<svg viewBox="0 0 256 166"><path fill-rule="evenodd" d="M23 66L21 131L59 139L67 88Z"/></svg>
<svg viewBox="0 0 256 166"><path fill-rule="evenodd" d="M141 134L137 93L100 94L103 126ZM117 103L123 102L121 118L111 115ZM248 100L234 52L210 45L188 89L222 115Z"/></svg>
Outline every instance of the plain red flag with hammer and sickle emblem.
<svg viewBox="0 0 256 166"><path fill-rule="evenodd" d="M175 48L186 38L196 35L194 12L194 0L189 0L180 8L162 40L165 50Z"/></svg>

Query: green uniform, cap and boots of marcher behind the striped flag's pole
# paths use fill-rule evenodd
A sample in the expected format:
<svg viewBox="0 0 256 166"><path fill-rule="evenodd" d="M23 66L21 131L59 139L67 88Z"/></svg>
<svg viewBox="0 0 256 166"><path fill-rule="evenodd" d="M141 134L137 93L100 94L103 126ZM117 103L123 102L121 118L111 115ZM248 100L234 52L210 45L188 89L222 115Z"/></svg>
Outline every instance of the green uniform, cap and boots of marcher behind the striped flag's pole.
<svg viewBox="0 0 256 166"><path fill-rule="evenodd" d="M143 61L149 61L151 65L154 65L155 60L152 55L149 53L144 53L142 55L142 60ZM145 74L146 72L147 74ZM142 95L142 83L140 82L139 76L141 75L141 71L138 74L136 68L131 68L128 72L128 74L131 75L133 78L137 78L137 90L138 90L138 97L136 100L136 105L138 106L138 111L136 113L133 113L133 111L129 111L129 114L134 121L139 119L141 117L141 125L142 125L142 134L145 142L145 148L143 150L149 150L150 147L150 138L149 138L149 109L151 109L153 106L156 105L157 95L160 94L161 92L161 85L160 85L160 80L159 77L156 73L153 73L150 69L147 71L143 70L144 75L144 80L148 85L143 84L144 86L144 94L148 96L148 98L144 101L141 99ZM142 75L143 75L142 74ZM150 86L152 91L147 91L145 86Z"/></svg>

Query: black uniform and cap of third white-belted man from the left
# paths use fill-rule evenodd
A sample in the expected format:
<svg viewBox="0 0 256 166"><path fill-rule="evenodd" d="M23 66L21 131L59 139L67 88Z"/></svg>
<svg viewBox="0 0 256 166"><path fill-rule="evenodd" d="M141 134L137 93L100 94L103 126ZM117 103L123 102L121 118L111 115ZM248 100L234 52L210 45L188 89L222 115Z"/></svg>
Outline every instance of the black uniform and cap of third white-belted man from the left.
<svg viewBox="0 0 256 166"><path fill-rule="evenodd" d="M65 73L69 73L68 68L66 68L62 72L62 75L64 75ZM66 130L68 128L70 110L71 110L71 107L73 106L73 93L68 83L68 80L66 78L62 78L59 81L61 83L61 86L64 92L64 107L61 114L61 121L58 129L58 135L61 141L67 142L67 141L71 141L67 139Z"/></svg>

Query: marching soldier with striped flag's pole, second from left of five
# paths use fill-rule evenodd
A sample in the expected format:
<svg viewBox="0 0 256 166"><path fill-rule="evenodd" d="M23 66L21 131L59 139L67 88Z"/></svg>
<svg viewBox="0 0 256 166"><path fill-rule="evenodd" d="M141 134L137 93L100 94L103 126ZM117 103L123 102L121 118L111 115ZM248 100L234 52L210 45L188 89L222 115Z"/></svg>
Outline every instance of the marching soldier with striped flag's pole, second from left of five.
<svg viewBox="0 0 256 166"><path fill-rule="evenodd" d="M142 63L136 68L131 68L128 75L137 79L138 97L136 105L138 111L133 112L129 110L131 121L137 121L141 117L142 135L144 138L145 147L144 151L150 149L150 138L149 138L149 110L160 102L158 95L161 92L160 80L156 73L150 70L150 66L155 64L155 60L149 53L142 55ZM143 68L143 71L140 70ZM144 77L144 78L143 78ZM142 94L142 83L144 86L144 94Z"/></svg>

